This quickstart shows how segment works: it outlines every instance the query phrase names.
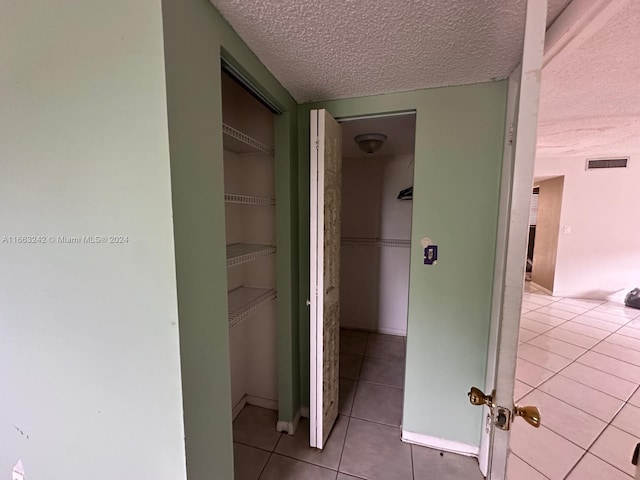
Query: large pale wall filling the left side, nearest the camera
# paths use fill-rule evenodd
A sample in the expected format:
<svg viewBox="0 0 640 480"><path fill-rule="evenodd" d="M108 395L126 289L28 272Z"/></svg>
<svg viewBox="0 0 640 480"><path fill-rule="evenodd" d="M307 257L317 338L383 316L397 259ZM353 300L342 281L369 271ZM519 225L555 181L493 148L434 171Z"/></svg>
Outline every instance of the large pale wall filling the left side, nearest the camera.
<svg viewBox="0 0 640 480"><path fill-rule="evenodd" d="M0 478L186 477L160 7L1 4Z"/></svg>

